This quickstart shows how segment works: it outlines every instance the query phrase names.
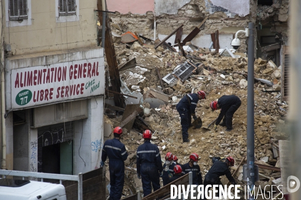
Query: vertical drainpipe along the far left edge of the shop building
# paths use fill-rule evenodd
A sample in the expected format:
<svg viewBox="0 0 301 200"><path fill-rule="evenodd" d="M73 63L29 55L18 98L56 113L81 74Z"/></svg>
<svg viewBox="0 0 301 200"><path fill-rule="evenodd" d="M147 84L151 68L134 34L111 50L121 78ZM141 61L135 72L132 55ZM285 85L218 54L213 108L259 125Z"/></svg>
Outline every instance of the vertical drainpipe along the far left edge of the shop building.
<svg viewBox="0 0 301 200"><path fill-rule="evenodd" d="M2 54L3 55L3 54ZM2 61L2 60L0 60ZM5 126L5 67L1 73L1 111L2 111L2 169L6 169L6 126Z"/></svg>

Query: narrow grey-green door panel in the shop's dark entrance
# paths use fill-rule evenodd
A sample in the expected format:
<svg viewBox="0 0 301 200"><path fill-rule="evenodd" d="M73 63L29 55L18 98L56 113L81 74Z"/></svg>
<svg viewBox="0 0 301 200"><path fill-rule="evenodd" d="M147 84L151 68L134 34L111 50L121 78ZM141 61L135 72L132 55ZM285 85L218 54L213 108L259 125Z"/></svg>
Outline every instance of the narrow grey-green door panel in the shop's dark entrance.
<svg viewBox="0 0 301 200"><path fill-rule="evenodd" d="M60 145L60 173L73 175L73 140L62 142Z"/></svg>

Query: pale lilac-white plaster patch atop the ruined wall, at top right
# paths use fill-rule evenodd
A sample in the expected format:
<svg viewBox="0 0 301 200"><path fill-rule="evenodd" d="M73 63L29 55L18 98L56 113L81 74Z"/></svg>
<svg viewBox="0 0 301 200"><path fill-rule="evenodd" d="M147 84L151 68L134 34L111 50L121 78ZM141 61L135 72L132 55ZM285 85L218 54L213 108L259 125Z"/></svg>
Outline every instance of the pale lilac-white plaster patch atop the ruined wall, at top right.
<svg viewBox="0 0 301 200"><path fill-rule="evenodd" d="M234 17L236 14L246 16L250 13L249 0L205 0L205 2L206 11L209 11L210 14L222 11L229 17Z"/></svg>

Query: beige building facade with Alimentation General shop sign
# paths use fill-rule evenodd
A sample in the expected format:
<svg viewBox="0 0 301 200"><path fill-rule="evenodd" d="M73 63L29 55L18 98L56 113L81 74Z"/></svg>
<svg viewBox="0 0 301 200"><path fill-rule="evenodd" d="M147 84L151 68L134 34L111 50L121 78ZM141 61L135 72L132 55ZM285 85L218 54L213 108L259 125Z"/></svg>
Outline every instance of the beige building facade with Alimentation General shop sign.
<svg viewBox="0 0 301 200"><path fill-rule="evenodd" d="M3 3L2 167L61 174L99 167L104 57L97 1Z"/></svg>

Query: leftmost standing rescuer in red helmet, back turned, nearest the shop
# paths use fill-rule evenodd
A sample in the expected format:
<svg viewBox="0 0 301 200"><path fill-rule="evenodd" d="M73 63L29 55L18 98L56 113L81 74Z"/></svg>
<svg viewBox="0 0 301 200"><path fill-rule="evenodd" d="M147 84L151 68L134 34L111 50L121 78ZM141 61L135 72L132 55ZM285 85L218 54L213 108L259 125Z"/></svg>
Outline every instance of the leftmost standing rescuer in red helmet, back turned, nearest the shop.
<svg viewBox="0 0 301 200"><path fill-rule="evenodd" d="M110 171L110 200L119 200L124 183L124 160L128 153L125 146L120 142L122 134L121 127L117 126L113 130L114 138L104 142L101 154L100 166L104 165L106 157L109 157Z"/></svg>

